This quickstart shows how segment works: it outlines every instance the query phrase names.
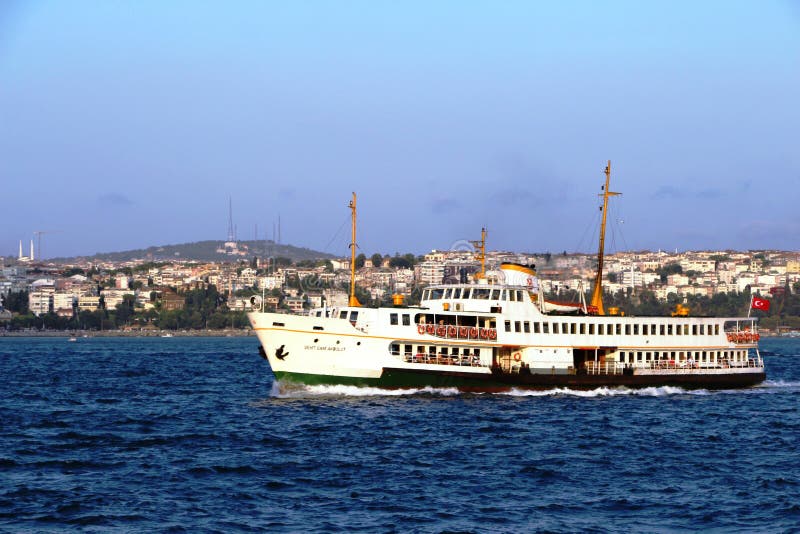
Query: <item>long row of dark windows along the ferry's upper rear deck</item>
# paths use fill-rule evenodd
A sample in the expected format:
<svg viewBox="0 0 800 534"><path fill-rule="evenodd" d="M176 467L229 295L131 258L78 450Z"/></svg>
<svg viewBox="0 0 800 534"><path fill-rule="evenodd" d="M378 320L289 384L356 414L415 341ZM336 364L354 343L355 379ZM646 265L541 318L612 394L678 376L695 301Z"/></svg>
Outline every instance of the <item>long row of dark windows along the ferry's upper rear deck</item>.
<svg viewBox="0 0 800 534"><path fill-rule="evenodd" d="M534 334L589 334L592 335L624 335L626 336L704 336L718 335L719 324L614 324L614 323L546 323L530 321L506 321L506 332L524 332L529 334L533 327ZM707 327L707 328L706 328ZM512 330L513 328L513 330Z"/></svg>

